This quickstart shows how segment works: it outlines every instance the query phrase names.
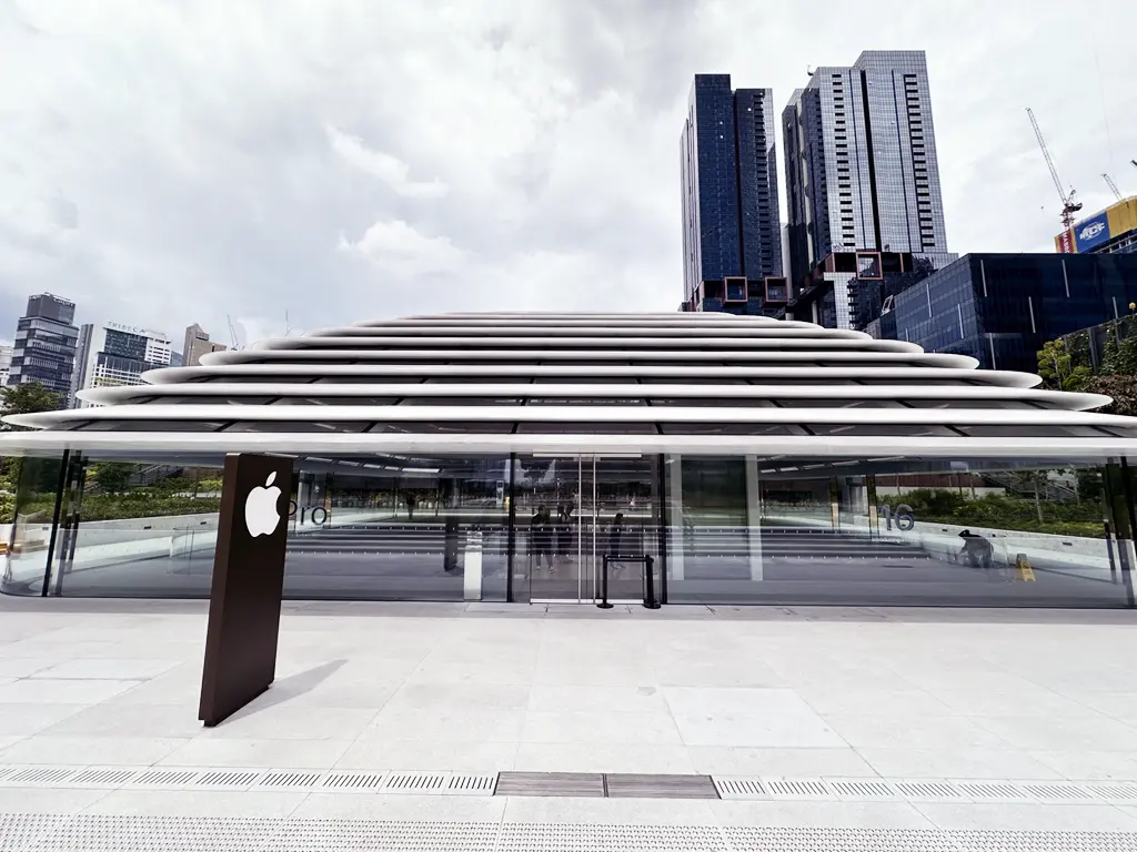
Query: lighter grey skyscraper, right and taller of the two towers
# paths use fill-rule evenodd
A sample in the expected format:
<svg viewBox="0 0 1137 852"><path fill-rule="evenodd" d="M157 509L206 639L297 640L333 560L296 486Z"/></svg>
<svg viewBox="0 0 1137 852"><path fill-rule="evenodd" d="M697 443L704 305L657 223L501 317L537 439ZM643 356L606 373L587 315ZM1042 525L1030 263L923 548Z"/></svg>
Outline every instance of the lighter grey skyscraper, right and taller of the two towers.
<svg viewBox="0 0 1137 852"><path fill-rule="evenodd" d="M792 293L832 253L947 252L922 50L818 68L782 130Z"/></svg>

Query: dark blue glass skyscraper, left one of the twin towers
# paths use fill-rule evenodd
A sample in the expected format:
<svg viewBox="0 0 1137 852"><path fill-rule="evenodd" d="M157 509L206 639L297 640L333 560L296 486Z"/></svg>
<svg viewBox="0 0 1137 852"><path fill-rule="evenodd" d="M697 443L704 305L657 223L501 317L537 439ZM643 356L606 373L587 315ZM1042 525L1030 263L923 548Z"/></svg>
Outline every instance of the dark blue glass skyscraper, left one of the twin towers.
<svg viewBox="0 0 1137 852"><path fill-rule="evenodd" d="M697 74L681 177L683 310L767 314L767 302L785 303L772 91Z"/></svg>

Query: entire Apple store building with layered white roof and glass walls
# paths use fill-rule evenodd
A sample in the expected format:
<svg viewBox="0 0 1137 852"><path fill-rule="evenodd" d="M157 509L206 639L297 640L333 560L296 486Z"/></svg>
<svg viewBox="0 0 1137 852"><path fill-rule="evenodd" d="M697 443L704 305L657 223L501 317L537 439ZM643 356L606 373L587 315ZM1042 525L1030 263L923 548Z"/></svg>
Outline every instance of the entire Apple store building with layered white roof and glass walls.
<svg viewBox="0 0 1137 852"><path fill-rule="evenodd" d="M1132 607L1137 418L1038 384L722 312L327 328L7 417L0 588L208 596L249 452L293 459L290 598Z"/></svg>

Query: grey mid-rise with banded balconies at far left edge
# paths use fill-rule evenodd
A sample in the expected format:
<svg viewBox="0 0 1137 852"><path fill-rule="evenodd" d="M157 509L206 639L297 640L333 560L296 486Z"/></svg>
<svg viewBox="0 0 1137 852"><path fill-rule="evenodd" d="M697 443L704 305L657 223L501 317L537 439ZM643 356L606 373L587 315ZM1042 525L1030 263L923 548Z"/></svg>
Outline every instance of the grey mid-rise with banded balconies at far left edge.
<svg viewBox="0 0 1137 852"><path fill-rule="evenodd" d="M60 407L67 407L78 342L74 320L75 302L51 293L31 296L16 324L8 384L38 382L59 395Z"/></svg>

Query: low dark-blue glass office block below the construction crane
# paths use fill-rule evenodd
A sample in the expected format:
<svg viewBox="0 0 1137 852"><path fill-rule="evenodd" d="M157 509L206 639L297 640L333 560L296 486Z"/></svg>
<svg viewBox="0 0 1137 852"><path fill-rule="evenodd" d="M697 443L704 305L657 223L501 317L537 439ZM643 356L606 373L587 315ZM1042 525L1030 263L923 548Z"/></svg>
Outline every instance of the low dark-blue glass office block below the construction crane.
<svg viewBox="0 0 1137 852"><path fill-rule="evenodd" d="M1130 303L1135 254L965 254L896 295L870 333L1034 373L1047 341L1126 317Z"/></svg>

